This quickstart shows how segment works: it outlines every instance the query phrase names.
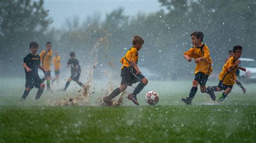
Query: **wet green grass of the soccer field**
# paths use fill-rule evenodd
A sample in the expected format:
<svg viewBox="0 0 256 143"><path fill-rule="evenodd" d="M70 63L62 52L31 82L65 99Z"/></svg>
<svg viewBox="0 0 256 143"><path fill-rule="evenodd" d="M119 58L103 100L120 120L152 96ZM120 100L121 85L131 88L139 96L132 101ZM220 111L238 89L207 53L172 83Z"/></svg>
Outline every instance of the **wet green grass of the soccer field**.
<svg viewBox="0 0 256 143"><path fill-rule="evenodd" d="M19 82L18 82L19 83ZM209 83L214 84L214 83ZM156 90L156 106L145 103L146 91ZM178 86L186 88L177 90ZM127 99L122 106L96 106L98 90L87 106L55 106L66 94L44 92L41 100L18 101L23 87L2 85L0 142L256 142L255 84L239 87L223 104L197 93L191 106L181 103L191 82L151 82L139 95L141 106ZM4 90L2 90L4 89ZM220 92L219 92L220 93ZM77 94L72 91L68 94ZM48 100L50 99L50 100Z"/></svg>

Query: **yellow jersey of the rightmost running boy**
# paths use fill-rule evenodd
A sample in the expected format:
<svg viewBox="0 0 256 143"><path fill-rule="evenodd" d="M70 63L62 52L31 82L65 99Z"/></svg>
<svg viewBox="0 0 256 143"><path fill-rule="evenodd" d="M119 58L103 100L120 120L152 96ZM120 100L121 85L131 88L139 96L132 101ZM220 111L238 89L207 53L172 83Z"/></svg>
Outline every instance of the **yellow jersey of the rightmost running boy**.
<svg viewBox="0 0 256 143"><path fill-rule="evenodd" d="M226 84L226 85L233 85L235 84L235 71L238 69L238 66L235 66L233 68L233 70L231 70L229 73L228 70L230 70L230 67L232 67L234 65L234 62L237 60L237 58L234 58L234 57L231 57L230 59L227 60L227 63L223 66L223 70L220 72L219 74L219 80L223 80L223 84Z"/></svg>

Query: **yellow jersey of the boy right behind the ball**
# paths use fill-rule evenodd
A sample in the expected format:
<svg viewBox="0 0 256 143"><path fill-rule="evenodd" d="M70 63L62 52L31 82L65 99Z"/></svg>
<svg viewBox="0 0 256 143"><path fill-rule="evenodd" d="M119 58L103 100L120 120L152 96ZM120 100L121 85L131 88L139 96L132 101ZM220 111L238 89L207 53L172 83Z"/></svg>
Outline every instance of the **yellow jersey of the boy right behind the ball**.
<svg viewBox="0 0 256 143"><path fill-rule="evenodd" d="M120 62L123 64L122 69L126 66L131 66L131 60L136 61L138 63L139 60L139 53L136 47L131 47L129 51L127 51L126 55L120 60Z"/></svg>

